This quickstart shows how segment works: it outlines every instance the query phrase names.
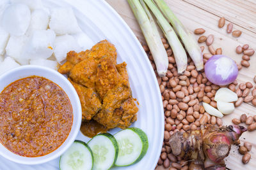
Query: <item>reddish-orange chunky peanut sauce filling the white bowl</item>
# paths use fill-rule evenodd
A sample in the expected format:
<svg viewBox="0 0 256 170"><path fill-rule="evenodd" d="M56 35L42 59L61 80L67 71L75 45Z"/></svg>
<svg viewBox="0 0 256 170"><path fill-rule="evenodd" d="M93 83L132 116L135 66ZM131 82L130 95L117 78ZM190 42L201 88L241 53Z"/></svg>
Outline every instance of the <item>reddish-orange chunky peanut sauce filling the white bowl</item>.
<svg viewBox="0 0 256 170"><path fill-rule="evenodd" d="M22 78L0 94L0 141L24 157L56 150L72 127L73 112L67 94L39 76Z"/></svg>

